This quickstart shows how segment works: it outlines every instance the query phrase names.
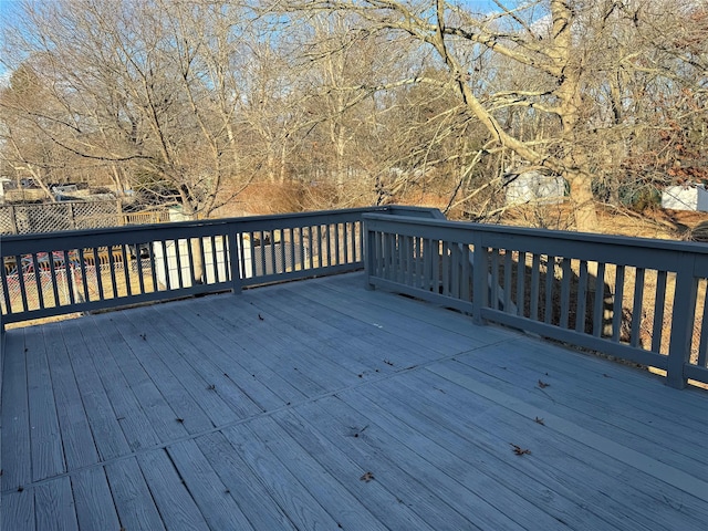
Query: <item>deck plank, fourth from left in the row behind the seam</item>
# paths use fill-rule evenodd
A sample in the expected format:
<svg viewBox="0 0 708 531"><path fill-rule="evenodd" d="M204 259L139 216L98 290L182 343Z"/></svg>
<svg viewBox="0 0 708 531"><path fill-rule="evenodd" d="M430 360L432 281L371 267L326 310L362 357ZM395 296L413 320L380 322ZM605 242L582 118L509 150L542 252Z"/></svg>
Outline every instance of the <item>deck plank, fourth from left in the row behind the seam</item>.
<svg viewBox="0 0 708 531"><path fill-rule="evenodd" d="M85 348L79 331L75 327L69 329L66 323L66 321L58 323L56 333L60 333L59 326L61 326L61 334L74 369L76 384L81 391L95 448L102 460L123 456L131 451L131 448L95 369L94 353ZM103 353L95 355L98 356L97 363L101 363L100 357Z"/></svg>

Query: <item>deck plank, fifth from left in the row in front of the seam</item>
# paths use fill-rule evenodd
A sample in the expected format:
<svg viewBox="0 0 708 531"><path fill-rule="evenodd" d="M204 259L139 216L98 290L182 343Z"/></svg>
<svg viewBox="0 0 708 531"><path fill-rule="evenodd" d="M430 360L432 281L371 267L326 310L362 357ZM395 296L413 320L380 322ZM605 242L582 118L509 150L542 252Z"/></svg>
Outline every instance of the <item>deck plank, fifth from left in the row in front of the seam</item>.
<svg viewBox="0 0 708 531"><path fill-rule="evenodd" d="M137 459L167 529L209 529L165 450L149 450Z"/></svg>

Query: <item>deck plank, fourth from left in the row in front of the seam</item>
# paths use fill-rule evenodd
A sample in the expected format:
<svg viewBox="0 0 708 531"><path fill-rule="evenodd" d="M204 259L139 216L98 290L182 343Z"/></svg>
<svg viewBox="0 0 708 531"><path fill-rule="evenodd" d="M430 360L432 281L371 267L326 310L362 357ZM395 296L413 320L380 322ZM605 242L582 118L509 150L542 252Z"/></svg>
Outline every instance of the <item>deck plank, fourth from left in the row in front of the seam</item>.
<svg viewBox="0 0 708 531"><path fill-rule="evenodd" d="M105 466L121 524L131 531L159 531L165 525L134 457Z"/></svg>

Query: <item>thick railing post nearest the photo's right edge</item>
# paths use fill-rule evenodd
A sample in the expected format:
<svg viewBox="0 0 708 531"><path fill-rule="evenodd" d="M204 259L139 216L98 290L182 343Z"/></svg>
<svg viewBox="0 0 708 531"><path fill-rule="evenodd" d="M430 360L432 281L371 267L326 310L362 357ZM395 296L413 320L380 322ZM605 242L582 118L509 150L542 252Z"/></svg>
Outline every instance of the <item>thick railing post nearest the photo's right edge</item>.
<svg viewBox="0 0 708 531"><path fill-rule="evenodd" d="M698 279L694 277L693 257L680 253L678 263L666 383L670 387L683 389L687 385L684 365L690 361Z"/></svg>

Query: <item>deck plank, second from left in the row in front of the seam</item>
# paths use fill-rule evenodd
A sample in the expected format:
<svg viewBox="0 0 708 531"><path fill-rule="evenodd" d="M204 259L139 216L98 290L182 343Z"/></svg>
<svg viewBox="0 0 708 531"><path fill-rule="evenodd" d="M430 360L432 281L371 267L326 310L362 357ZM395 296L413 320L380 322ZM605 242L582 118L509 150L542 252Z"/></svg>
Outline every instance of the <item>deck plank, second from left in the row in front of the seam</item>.
<svg viewBox="0 0 708 531"><path fill-rule="evenodd" d="M38 530L79 529L69 477L64 476L34 487L34 518Z"/></svg>

